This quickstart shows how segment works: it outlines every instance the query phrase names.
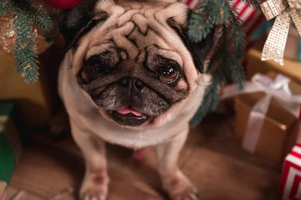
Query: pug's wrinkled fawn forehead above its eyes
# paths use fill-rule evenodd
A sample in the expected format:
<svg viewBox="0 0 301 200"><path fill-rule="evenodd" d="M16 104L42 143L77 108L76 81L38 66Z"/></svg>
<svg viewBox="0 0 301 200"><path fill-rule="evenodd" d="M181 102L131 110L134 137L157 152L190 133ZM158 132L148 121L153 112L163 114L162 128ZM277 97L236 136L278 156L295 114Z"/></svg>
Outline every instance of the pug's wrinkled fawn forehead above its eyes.
<svg viewBox="0 0 301 200"><path fill-rule="evenodd" d="M160 54L169 54L175 59L177 47L181 39L167 24L167 19L175 18L179 23L186 21L186 5L178 2L160 1L161 4L126 3L116 4L112 0L103 0L96 4L95 17L101 12L107 12L106 21L94 28L86 38L89 38L86 56L104 51L109 43L125 50L132 59L139 57L140 53L156 46ZM154 49L154 48L152 48Z"/></svg>

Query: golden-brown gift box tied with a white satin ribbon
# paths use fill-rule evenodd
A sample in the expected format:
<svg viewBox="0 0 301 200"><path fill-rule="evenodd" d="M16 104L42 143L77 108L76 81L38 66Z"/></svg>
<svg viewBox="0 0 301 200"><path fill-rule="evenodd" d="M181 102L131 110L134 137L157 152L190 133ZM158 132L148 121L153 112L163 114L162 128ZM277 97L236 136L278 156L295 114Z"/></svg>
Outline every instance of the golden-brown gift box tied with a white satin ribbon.
<svg viewBox="0 0 301 200"><path fill-rule="evenodd" d="M269 71L266 76L274 79L277 73ZM300 84L290 81L288 87L292 94L301 94ZM266 95L266 92L251 92L235 97L235 134L247 151L261 155L275 163L281 163L296 142L298 120L278 100L271 97L267 113L265 117L262 116L262 127L258 130L258 137L255 136L255 131L249 131L246 135L247 127L250 127L248 123L253 106ZM255 123L251 129L256 129L260 126L258 124ZM253 145L253 149L248 147L249 143Z"/></svg>

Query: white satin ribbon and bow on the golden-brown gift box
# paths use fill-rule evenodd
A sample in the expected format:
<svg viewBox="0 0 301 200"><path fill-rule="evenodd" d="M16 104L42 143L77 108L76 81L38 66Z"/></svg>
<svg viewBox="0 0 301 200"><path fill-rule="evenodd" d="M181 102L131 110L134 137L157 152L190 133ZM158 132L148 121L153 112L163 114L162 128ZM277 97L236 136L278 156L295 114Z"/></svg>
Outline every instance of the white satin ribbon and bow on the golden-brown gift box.
<svg viewBox="0 0 301 200"><path fill-rule="evenodd" d="M293 95L291 93L288 87L289 82L290 79L282 74L278 74L273 80L261 73L256 73L251 78L251 81L246 82L245 90L241 93L253 93L258 91L266 93L266 95L253 106L248 118L246 132L242 141L242 147L248 152L255 152L264 118L266 117L272 97L296 118L298 117L301 95ZM239 93L236 85L229 85L223 89L221 99L233 97Z"/></svg>

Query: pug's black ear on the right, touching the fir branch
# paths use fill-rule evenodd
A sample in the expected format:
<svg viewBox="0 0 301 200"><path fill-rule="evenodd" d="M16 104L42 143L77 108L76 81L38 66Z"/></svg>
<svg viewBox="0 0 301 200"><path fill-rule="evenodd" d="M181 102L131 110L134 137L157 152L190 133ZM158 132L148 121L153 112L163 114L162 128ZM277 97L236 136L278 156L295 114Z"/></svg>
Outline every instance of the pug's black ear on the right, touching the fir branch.
<svg viewBox="0 0 301 200"><path fill-rule="evenodd" d="M192 15L192 9L188 8L186 24L179 24L170 17L167 19L168 25L173 28L181 37L186 47L190 51L195 66L201 73L204 73L204 62L210 51L213 49L216 42L216 28L213 27L211 32L200 42L193 42L188 37L188 24Z"/></svg>

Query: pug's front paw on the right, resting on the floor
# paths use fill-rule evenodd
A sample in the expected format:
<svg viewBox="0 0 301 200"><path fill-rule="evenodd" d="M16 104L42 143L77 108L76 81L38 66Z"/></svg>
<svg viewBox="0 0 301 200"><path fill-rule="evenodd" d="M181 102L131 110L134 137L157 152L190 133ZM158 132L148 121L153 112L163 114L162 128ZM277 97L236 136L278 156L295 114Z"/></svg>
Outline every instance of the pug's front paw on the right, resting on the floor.
<svg viewBox="0 0 301 200"><path fill-rule="evenodd" d="M172 200L200 200L197 188L183 175L164 180L164 188Z"/></svg>

